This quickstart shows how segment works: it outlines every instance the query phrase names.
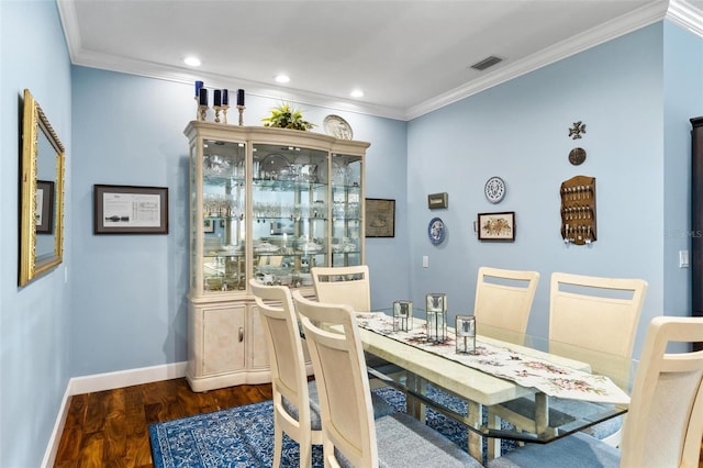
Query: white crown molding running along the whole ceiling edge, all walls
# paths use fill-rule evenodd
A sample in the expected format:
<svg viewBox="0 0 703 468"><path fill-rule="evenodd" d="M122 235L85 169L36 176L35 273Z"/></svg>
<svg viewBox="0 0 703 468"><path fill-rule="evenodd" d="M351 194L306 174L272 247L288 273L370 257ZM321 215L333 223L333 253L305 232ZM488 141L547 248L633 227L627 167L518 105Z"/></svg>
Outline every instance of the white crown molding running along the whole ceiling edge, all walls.
<svg viewBox="0 0 703 468"><path fill-rule="evenodd" d="M506 63L494 71L488 73L483 78L457 87L437 96L436 98L429 99L409 109L397 109L353 100L343 100L325 94L284 87L264 87L261 83L238 79L236 77L214 74L197 74L189 68L167 67L156 63L134 60L125 57L86 51L81 47L81 40L77 24L78 20L74 2L68 0L57 0L57 4L64 27L64 35L66 36L71 63L74 65L182 83L191 83L196 79L201 79L214 87L245 88L247 93L253 96L289 100L338 111L356 112L403 121L410 121L419 118L502 82L517 78L529 71L534 71L588 48L645 27L657 21L661 21L665 18L695 34L703 36L703 14L700 10L691 7L684 0L657 1L632 13L593 27L582 34L555 44L539 53L533 54L529 57L513 63Z"/></svg>

